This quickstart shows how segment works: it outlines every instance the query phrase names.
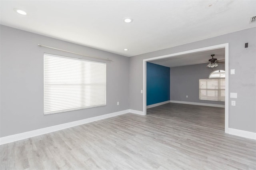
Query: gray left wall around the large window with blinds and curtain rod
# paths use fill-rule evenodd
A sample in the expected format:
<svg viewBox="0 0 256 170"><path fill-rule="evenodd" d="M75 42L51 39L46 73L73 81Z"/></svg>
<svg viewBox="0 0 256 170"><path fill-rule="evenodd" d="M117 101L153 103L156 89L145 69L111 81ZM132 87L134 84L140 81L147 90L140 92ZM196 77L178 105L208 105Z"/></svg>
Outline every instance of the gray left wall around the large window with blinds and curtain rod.
<svg viewBox="0 0 256 170"><path fill-rule="evenodd" d="M1 137L129 109L128 57L6 26L0 29ZM107 62L107 106L44 115L43 53L81 56L38 47L37 43L114 60Z"/></svg>

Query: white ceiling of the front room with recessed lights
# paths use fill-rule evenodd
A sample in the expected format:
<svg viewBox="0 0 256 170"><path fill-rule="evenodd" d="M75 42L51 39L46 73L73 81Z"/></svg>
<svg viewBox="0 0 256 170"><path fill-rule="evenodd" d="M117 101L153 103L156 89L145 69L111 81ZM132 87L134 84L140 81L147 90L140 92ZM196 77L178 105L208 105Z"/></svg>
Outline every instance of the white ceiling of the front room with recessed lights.
<svg viewBox="0 0 256 170"><path fill-rule="evenodd" d="M0 10L2 25L125 56L256 26L255 0L1 0Z"/></svg>

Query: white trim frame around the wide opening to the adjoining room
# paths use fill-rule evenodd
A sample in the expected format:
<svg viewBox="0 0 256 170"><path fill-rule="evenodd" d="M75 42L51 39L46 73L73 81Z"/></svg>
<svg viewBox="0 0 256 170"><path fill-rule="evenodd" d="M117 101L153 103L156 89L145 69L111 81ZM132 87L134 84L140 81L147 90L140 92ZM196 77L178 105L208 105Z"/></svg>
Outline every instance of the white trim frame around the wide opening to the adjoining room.
<svg viewBox="0 0 256 170"><path fill-rule="evenodd" d="M228 93L228 74L229 74L229 70L228 70L228 43L223 43L223 44L219 44L219 45L213 45L213 46L209 46L209 47L203 47L203 48L198 48L198 49L192 49L192 50L188 50L188 51L182 51L182 52L178 52L178 53L172 53L172 54L167 54L167 55L161 55L158 57L152 57L152 58L148 58L148 59L143 59L143 114L146 115L146 111L147 111L147 105L146 105L146 62L147 61L152 61L152 60L157 60L157 59L163 59L163 58L169 58L169 57L174 57L174 56L178 56L178 55L184 55L184 54L188 54L188 53L196 53L196 52L201 52L201 51L208 51L208 50L212 50L212 49L220 49L220 48L225 48L225 73L226 73L226 78L225 78L225 83L226 83L226 87L225 87L225 133L228 133L228 97L229 97L229 93Z"/></svg>

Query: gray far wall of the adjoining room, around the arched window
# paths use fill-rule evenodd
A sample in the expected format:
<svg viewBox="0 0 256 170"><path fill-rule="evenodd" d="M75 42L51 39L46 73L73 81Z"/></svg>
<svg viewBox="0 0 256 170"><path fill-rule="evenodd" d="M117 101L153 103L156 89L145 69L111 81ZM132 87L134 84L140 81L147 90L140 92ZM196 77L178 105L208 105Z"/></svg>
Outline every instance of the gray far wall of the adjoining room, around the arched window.
<svg viewBox="0 0 256 170"><path fill-rule="evenodd" d="M170 99L175 101L189 101L225 105L223 101L199 100L199 79L208 79L215 70L225 70L225 64L218 64L215 68L206 67L208 63L186 65L170 68ZM188 95L188 98L186 98Z"/></svg>

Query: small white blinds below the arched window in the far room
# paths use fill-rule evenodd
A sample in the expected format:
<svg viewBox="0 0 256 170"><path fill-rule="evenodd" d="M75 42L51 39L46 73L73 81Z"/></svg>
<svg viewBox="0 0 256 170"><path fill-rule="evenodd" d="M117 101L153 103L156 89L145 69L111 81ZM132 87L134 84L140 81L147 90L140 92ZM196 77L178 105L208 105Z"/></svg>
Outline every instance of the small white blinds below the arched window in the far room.
<svg viewBox="0 0 256 170"><path fill-rule="evenodd" d="M199 79L199 99L225 101L225 79Z"/></svg>

